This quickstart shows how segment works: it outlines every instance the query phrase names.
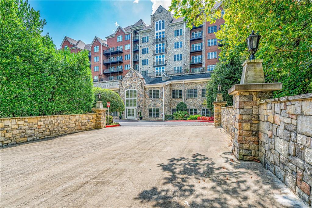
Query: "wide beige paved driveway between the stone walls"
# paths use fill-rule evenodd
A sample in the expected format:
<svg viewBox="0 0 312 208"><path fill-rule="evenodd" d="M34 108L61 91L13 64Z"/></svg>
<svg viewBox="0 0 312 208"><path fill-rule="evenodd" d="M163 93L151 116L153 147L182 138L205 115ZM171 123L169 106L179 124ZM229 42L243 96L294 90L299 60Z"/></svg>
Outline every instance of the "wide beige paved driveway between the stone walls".
<svg viewBox="0 0 312 208"><path fill-rule="evenodd" d="M1 207L303 207L211 123L121 126L1 148Z"/></svg>

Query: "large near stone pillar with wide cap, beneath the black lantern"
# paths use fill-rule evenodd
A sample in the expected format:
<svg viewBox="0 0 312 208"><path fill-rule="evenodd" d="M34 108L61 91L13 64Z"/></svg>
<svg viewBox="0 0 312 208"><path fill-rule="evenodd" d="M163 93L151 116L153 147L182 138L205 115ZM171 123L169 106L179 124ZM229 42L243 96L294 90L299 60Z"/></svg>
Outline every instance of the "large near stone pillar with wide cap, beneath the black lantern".
<svg viewBox="0 0 312 208"><path fill-rule="evenodd" d="M272 97L282 83L264 83L263 60L243 63L241 83L232 86L235 115L232 152L238 160L259 160L259 101Z"/></svg>

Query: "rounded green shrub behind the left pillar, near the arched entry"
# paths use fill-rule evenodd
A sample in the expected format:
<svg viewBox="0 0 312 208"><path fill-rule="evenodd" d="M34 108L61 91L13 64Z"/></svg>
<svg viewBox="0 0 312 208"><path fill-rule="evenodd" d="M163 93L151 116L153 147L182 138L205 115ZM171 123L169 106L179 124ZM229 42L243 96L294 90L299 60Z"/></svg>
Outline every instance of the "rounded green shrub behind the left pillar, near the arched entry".
<svg viewBox="0 0 312 208"><path fill-rule="evenodd" d="M103 106L106 107L106 103L110 102L110 112L121 112L124 111L124 102L122 101L121 97L116 93L108 89L103 89L100 87L94 87L94 106L96 101L99 101L98 93L101 95L100 101L103 102Z"/></svg>

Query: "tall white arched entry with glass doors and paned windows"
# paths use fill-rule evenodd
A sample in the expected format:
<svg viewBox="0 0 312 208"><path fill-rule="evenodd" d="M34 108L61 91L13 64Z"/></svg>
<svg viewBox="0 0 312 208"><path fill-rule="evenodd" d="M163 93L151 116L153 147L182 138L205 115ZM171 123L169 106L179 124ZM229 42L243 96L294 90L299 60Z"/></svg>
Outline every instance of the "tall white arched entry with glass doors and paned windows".
<svg viewBox="0 0 312 208"><path fill-rule="evenodd" d="M125 119L138 119L137 90L129 89L124 92Z"/></svg>

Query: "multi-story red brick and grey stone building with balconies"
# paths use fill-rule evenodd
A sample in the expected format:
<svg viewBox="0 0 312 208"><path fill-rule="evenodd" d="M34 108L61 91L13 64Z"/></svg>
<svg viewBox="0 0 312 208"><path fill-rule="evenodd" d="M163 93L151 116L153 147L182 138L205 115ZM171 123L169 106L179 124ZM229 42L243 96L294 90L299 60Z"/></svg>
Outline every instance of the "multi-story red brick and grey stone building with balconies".
<svg viewBox="0 0 312 208"><path fill-rule="evenodd" d="M220 5L216 2L214 8L222 11ZM162 120L181 101L190 114L210 116L203 103L221 46L215 32L224 20L189 29L183 18L175 19L162 6L150 20L149 26L142 19L119 26L106 41L93 39L89 56L94 86L119 93L125 103L125 119L138 119L142 111L144 119ZM61 46L68 45L74 52L77 44L65 37ZM118 116L118 112L112 114Z"/></svg>

